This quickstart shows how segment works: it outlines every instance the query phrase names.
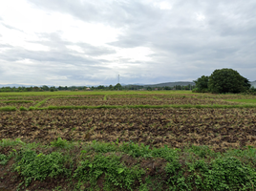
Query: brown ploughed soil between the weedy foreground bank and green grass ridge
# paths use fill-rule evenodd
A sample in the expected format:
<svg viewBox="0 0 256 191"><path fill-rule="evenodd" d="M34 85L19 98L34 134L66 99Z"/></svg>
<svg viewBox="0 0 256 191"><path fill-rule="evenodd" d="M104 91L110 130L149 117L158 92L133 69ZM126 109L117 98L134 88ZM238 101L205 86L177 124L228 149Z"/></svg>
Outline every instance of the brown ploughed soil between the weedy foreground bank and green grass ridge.
<svg viewBox="0 0 256 191"><path fill-rule="evenodd" d="M0 139L134 141L215 150L256 146L256 109L90 109L3 112Z"/></svg>

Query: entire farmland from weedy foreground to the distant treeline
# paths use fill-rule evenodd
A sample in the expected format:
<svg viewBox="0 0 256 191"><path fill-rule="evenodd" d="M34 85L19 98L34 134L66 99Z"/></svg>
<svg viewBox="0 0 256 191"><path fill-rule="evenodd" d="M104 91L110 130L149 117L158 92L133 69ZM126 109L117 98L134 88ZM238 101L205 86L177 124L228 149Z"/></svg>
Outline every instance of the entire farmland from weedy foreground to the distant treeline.
<svg viewBox="0 0 256 191"><path fill-rule="evenodd" d="M253 190L255 100L188 91L1 94L0 182L13 185L10 190L211 190L213 184ZM32 164L22 163L27 155L38 162L38 155L59 155L63 161L55 165L62 170L32 174ZM107 166L115 160L117 175L107 166L93 170L97 160ZM225 164L233 165L237 180ZM214 170L217 177L209 174Z"/></svg>

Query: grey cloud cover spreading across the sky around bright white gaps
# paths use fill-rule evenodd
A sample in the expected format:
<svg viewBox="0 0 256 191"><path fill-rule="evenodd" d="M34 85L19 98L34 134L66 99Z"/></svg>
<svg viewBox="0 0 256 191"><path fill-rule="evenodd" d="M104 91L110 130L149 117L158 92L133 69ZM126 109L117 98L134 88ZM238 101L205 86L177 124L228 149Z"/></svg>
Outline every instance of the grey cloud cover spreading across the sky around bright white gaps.
<svg viewBox="0 0 256 191"><path fill-rule="evenodd" d="M49 76L67 76L74 83L115 84L117 74L121 75L122 83L193 80L226 67L241 71L250 80L256 79L254 0L169 0L171 10L160 10L152 0L29 2L39 9L68 13L84 22L122 29L117 41L109 45L150 48L153 51L148 55L151 61L120 57L119 65L111 68L104 64L110 61L96 56L115 54L114 49L65 41L57 32L39 33L41 40L32 42L47 46L50 52L12 48L0 54L2 60L12 62L30 58L39 65L35 65L34 70L38 67ZM203 14L205 18L197 20L197 14ZM84 53L67 48L74 45ZM65 79L60 81L67 83Z"/></svg>

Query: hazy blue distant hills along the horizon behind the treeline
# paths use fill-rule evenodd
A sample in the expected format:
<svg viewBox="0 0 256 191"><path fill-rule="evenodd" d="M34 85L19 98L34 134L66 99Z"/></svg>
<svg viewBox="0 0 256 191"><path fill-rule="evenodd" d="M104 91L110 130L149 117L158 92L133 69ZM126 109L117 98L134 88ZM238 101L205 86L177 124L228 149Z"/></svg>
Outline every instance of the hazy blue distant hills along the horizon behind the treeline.
<svg viewBox="0 0 256 191"><path fill-rule="evenodd" d="M141 84L141 83L135 83L135 84L121 84L122 86L143 86L143 87L174 87L174 86L187 86L187 85L196 85L193 81L176 81L176 82L165 82L165 83L159 83L159 84ZM250 82L251 86L254 86L256 88L256 80ZM23 85L23 84L0 84L0 88L2 87L33 87L34 85ZM38 87L41 87L43 85L40 85ZM50 85L48 85L51 87ZM89 85L87 85L88 87ZM96 86L95 86L96 87Z"/></svg>

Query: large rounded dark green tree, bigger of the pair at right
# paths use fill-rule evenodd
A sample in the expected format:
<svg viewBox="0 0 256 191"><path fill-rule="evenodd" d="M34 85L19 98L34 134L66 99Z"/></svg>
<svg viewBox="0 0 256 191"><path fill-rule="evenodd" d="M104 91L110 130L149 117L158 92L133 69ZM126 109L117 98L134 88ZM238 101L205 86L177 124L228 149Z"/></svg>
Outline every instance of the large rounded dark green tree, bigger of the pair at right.
<svg viewBox="0 0 256 191"><path fill-rule="evenodd" d="M208 88L212 93L237 94L249 90L250 83L247 78L233 69L220 69L209 76Z"/></svg>

